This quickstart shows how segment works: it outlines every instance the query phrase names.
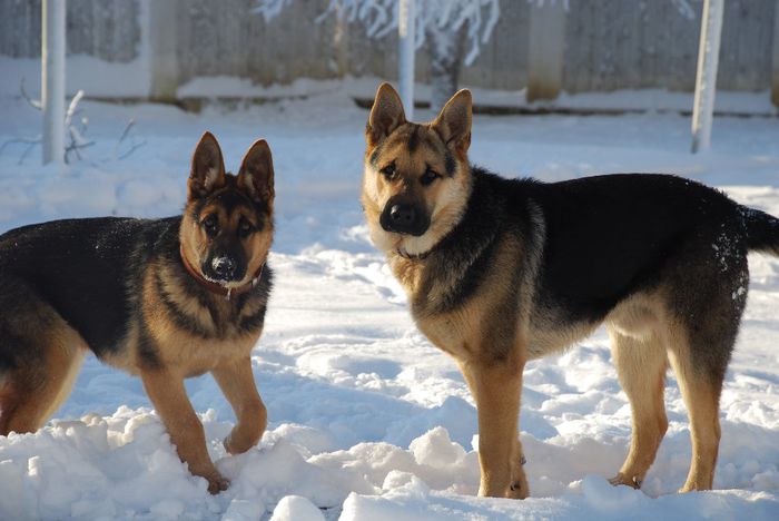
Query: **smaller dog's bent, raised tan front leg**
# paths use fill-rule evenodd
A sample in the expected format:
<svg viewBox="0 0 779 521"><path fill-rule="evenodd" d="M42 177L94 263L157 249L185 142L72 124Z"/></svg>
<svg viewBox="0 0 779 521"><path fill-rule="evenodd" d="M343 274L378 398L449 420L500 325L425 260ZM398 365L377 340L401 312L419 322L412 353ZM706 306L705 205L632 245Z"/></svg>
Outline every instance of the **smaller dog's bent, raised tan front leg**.
<svg viewBox="0 0 779 521"><path fill-rule="evenodd" d="M247 356L211 371L221 392L235 411L238 423L225 439L230 454L248 451L257 444L268 423L268 413L257 393L252 373L252 360Z"/></svg>

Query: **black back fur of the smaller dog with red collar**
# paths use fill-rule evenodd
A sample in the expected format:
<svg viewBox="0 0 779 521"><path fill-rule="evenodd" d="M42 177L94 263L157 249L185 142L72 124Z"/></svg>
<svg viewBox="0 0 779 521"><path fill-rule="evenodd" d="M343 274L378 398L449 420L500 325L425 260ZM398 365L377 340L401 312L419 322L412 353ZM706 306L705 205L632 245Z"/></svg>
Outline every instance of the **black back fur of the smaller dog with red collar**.
<svg viewBox="0 0 779 521"><path fill-rule="evenodd" d="M0 273L24 281L100 355L125 335L148 259L178 252L180 220L103 217L17 228L0 236ZM26 295L6 292L2 301L11 298Z"/></svg>

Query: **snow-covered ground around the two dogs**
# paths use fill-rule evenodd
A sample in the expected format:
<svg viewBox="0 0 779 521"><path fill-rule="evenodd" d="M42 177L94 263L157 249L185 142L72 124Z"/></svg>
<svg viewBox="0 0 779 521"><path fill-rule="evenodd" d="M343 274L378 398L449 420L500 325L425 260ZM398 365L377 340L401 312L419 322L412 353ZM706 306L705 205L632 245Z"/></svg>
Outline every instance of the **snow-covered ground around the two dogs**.
<svg viewBox="0 0 779 521"><path fill-rule="evenodd" d="M599 331L526 370L521 431L532 498L479 499L473 401L453 361L415 330L363 224L366 111L337 91L200 115L83 107L97 141L85 160L60 171L39 166L39 150L19 165L21 145L0 154L0 232L61 217L172 215L204 130L231 169L254 139L268 139L277 285L253 362L270 423L259 446L229 456L220 445L235 421L229 405L209 376L188 382L211 456L231 480L211 497L179 462L140 381L89 357L45 429L0 439L0 519L779 519L779 262L750 257L716 491L674 493L690 442L672 377L671 425L643 490L608 484L628 450L630 412ZM19 99L0 97L0 142L39 132L38 112ZM129 118L146 145L117 159ZM717 119L713 149L701 156L689 154L688 129L676 115L477 116L471 156L543 180L677 173L779 215L777 119Z"/></svg>

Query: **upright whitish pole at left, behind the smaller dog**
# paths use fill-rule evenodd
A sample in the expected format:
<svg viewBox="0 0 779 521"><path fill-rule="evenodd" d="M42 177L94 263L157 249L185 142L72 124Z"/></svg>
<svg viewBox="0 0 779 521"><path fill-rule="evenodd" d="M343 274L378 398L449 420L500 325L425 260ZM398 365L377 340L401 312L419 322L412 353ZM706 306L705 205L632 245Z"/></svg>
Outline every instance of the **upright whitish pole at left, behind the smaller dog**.
<svg viewBox="0 0 779 521"><path fill-rule="evenodd" d="M41 108L43 164L65 160L66 0L41 2Z"/></svg>

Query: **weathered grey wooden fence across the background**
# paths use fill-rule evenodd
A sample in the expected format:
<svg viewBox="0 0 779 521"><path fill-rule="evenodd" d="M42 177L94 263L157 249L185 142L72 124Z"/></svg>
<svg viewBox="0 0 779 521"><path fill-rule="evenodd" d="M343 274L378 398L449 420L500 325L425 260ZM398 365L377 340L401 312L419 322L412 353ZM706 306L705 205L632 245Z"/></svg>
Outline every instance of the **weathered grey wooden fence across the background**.
<svg viewBox="0 0 779 521"><path fill-rule="evenodd" d="M319 16L327 0L292 0L273 20L255 0L71 0L68 50L150 67L148 94L172 98L200 76L263 83L345 75L397 77L397 35L372 39L358 23ZM461 81L529 97L629 88L694 88L702 2L501 0L501 17ZM568 9L564 8L568 6ZM40 0L0 0L0 56L40 56ZM718 87L773 90L779 105L779 0L726 2ZM542 35L543 39L532 35ZM151 63L137 59L148 38ZM146 42L148 43L148 42ZM148 48L148 46L147 46ZM134 61L135 60L135 61ZM428 59L416 55L417 81ZM146 73L146 71L144 71ZM89 88L86 87L88 94Z"/></svg>

